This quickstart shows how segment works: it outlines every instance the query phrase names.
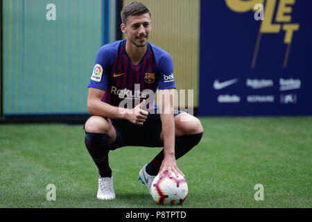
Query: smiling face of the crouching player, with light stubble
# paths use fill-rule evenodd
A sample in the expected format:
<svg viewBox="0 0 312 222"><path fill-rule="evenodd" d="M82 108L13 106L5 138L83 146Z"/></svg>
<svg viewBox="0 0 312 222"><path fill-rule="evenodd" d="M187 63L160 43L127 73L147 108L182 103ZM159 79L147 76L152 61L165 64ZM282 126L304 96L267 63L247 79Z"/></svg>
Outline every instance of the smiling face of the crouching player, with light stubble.
<svg viewBox="0 0 312 222"><path fill-rule="evenodd" d="M127 18L126 26L121 25L121 31L127 34L127 40L135 44L137 47L146 45L152 23L150 22L150 15L131 15Z"/></svg>

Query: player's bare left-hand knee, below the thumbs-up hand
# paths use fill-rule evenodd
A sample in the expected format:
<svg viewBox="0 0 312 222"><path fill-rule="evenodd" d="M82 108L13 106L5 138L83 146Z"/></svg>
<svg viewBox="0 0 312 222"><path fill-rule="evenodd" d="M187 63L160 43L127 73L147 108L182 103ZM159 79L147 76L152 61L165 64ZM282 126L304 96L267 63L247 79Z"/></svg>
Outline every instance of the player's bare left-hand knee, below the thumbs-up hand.
<svg viewBox="0 0 312 222"><path fill-rule="evenodd" d="M93 116L85 123L87 133L108 133L110 131L110 121L104 117Z"/></svg>

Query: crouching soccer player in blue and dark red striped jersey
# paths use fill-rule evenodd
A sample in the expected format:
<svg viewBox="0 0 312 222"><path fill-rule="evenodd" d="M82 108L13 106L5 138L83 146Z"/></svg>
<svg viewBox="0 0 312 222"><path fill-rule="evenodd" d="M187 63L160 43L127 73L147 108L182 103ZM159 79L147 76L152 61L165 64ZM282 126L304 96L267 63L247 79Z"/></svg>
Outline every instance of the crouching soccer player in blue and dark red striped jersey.
<svg viewBox="0 0 312 222"><path fill-rule="evenodd" d="M121 11L121 19L126 39L98 51L88 85L87 108L92 117L84 126L85 145L100 176L97 198L105 200L115 198L110 151L123 146L163 147L139 171L139 180L150 191L157 174L168 171L171 177L172 173L184 176L176 159L196 146L203 133L196 117L173 110L173 61L166 51L148 42L150 10L132 2ZM164 99L158 112L148 112L155 108L153 92L157 89Z"/></svg>

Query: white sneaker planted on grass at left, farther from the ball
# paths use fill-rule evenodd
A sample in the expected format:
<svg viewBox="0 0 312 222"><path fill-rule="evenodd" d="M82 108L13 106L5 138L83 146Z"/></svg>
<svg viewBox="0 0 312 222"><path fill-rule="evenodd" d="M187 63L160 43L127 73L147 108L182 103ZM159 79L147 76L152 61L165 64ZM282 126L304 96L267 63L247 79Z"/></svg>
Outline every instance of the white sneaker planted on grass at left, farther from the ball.
<svg viewBox="0 0 312 222"><path fill-rule="evenodd" d="M111 178L98 178L98 194L97 198L100 200L112 200L116 198L113 179Z"/></svg>

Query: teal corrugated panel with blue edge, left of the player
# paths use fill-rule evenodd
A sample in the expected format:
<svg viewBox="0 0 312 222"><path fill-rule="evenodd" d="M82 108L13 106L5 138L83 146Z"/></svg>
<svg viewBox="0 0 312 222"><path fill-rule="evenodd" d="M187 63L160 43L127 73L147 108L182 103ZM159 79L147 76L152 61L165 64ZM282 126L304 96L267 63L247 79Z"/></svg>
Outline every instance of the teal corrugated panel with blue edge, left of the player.
<svg viewBox="0 0 312 222"><path fill-rule="evenodd" d="M3 0L4 116L87 113L94 60L109 40L110 1Z"/></svg>

